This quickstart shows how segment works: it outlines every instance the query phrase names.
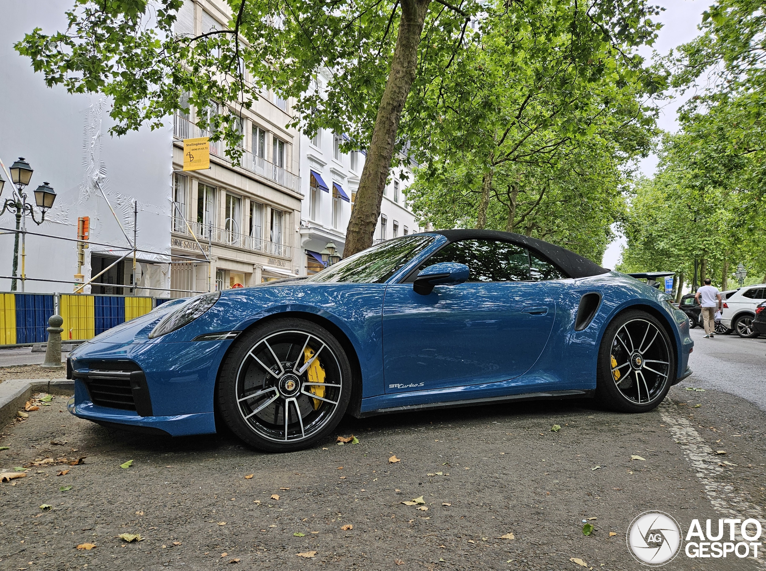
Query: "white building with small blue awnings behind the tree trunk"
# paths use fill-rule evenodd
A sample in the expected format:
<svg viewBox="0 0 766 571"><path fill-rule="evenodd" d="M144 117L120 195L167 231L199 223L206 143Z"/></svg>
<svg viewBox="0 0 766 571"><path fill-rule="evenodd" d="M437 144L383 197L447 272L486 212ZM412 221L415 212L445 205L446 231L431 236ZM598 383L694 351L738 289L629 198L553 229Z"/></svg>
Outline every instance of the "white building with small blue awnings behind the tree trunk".
<svg viewBox="0 0 766 571"><path fill-rule="evenodd" d="M322 90L329 80L319 73L314 89ZM300 173L303 204L300 212L300 274L313 274L325 267L322 250L329 243L343 255L345 230L354 207L359 178L365 166L366 153L358 150L341 152L346 135L320 129L309 139L300 135ZM375 228L375 241L388 240L408 233L420 232L414 214L404 199L404 189L412 180L409 168L391 171L381 203L381 216ZM297 255L296 255L297 256Z"/></svg>

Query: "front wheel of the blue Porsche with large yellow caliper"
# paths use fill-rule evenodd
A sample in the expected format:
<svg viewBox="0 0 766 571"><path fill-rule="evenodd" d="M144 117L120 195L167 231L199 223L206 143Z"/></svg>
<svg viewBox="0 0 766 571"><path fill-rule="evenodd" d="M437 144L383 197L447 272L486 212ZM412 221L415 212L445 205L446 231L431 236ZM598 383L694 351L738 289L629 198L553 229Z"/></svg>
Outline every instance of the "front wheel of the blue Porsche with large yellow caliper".
<svg viewBox="0 0 766 571"><path fill-rule="evenodd" d="M221 419L244 442L292 452L329 436L351 391L351 365L339 341L312 321L286 318L237 338L216 399Z"/></svg>

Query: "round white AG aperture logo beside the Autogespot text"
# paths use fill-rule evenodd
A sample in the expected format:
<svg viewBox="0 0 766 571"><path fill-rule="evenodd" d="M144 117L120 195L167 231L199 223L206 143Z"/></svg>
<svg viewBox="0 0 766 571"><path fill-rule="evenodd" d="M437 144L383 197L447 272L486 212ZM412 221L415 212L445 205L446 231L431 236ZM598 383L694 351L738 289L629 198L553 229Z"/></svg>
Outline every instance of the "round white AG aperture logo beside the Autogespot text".
<svg viewBox="0 0 766 571"><path fill-rule="evenodd" d="M627 547L640 563L659 567L678 554L681 529L672 516L662 511L646 511L628 527Z"/></svg>

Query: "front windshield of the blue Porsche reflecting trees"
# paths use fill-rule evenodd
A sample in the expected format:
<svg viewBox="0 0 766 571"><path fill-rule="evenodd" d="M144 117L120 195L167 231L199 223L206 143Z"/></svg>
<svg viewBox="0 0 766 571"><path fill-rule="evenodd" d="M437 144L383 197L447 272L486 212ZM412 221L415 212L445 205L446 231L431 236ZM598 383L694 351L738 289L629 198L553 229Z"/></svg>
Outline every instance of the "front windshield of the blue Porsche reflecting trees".
<svg viewBox="0 0 766 571"><path fill-rule="evenodd" d="M306 282L382 283L434 240L422 234L387 240L322 269Z"/></svg>

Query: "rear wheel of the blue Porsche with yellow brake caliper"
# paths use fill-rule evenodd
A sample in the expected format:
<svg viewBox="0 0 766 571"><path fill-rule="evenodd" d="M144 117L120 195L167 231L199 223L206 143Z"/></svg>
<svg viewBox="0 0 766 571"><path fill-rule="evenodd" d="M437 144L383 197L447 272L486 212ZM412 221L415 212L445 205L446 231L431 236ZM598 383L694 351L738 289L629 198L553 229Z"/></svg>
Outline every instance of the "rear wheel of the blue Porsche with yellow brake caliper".
<svg viewBox="0 0 766 571"><path fill-rule="evenodd" d="M676 353L660 321L640 310L617 315L598 351L597 400L620 412L646 413L675 380Z"/></svg>

